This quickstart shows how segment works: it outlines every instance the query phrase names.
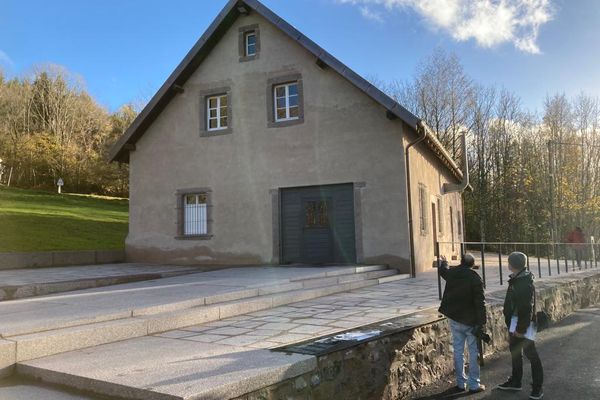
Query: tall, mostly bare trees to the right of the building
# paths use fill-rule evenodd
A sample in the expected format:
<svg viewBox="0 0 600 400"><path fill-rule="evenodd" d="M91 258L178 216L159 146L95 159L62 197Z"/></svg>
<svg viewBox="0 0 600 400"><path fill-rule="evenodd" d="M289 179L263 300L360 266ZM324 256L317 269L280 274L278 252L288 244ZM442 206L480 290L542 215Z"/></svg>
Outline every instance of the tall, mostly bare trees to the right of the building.
<svg viewBox="0 0 600 400"><path fill-rule="evenodd" d="M598 98L548 94L531 111L517 93L474 81L441 49L410 80L372 81L424 119L457 162L466 133L468 241L564 242L575 226L597 237Z"/></svg>

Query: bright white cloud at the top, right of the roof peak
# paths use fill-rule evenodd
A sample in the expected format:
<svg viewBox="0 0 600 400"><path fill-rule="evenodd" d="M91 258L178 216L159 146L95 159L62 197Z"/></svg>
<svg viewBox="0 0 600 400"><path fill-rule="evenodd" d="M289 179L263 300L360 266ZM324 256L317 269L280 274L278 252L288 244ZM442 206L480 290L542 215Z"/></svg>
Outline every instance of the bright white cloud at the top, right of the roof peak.
<svg viewBox="0 0 600 400"><path fill-rule="evenodd" d="M360 7L365 18L382 20L377 7L412 9L434 29L458 41L475 40L490 48L512 43L517 49L540 53L542 25L552 20L551 0L336 0ZM375 17L374 17L375 16Z"/></svg>

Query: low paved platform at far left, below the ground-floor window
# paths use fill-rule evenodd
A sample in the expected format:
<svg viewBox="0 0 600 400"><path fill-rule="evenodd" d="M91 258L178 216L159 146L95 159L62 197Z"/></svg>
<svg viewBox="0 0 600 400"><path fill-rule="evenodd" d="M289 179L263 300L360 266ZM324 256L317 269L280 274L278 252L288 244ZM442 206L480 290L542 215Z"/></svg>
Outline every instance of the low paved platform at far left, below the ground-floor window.
<svg viewBox="0 0 600 400"><path fill-rule="evenodd" d="M0 301L166 278L192 272L198 272L198 269L144 264L0 270Z"/></svg>

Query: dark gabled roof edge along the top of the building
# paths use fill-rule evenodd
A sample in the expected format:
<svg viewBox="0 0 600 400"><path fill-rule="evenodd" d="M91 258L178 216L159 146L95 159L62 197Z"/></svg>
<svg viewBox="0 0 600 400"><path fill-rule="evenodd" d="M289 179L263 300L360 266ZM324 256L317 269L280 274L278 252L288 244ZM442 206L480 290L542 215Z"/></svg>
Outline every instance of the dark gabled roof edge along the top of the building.
<svg viewBox="0 0 600 400"><path fill-rule="evenodd" d="M292 40L304 47L315 56L315 60L322 65L333 69L351 84L362 90L365 94L381 104L388 112L388 116L401 119L404 123L414 130L419 129L421 120L402 107L398 102L381 90L373 86L366 79L352 71L349 67L340 62L337 58L329 54L315 42L304 36L300 31L287 23L273 11L268 9L258 0L230 0L223 10L217 15L210 24L206 32L196 42L194 47L188 52L185 58L179 63L175 71L156 92L154 97L137 116L129 126L123 136L113 146L110 153L111 161L128 162L129 151L135 148L135 143L144 134L146 129L152 124L161 111L167 106L171 99L179 92L181 87L194 73L210 51L217 45L222 36L227 32L235 20L247 12L256 12L271 24L279 28ZM431 136L431 135L429 135ZM438 155L441 161L454 173L461 177L462 173L456 163L449 157L446 150L437 140L429 140L429 147Z"/></svg>

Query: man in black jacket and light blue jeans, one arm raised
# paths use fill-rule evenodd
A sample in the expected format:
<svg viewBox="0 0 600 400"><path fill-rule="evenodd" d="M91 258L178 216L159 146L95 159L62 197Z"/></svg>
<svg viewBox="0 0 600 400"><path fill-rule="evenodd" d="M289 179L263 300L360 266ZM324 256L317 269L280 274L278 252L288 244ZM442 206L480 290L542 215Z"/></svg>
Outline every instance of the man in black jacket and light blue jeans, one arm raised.
<svg viewBox="0 0 600 400"><path fill-rule="evenodd" d="M473 271L474 264L475 259L468 253L462 257L460 265L452 268L448 268L442 257L439 274L446 280L446 287L439 311L448 317L452 331L456 389L464 391L466 388L471 393L478 393L484 391L485 386L479 379L479 350L474 333L485 325L486 312L483 281ZM469 348L468 379L465 376L465 341Z"/></svg>

